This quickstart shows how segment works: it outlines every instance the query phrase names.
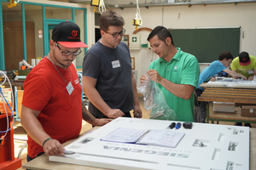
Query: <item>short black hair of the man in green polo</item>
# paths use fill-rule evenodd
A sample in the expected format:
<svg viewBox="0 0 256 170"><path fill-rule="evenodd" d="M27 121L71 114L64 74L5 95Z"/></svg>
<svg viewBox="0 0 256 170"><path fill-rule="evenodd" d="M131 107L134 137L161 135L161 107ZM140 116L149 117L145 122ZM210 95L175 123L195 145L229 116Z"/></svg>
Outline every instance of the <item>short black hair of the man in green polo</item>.
<svg viewBox="0 0 256 170"><path fill-rule="evenodd" d="M148 42L149 40L154 37L155 35L157 35L157 37L166 43L166 38L167 37L171 37L171 40L172 40L172 45L174 46L174 42L173 42L173 39L172 39L172 34L171 34L171 31L169 31L166 27L164 26L156 26L154 28L153 31L150 32L150 34L148 35Z"/></svg>

